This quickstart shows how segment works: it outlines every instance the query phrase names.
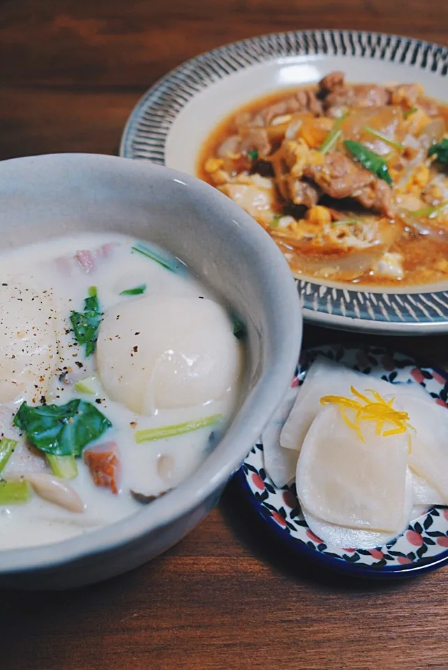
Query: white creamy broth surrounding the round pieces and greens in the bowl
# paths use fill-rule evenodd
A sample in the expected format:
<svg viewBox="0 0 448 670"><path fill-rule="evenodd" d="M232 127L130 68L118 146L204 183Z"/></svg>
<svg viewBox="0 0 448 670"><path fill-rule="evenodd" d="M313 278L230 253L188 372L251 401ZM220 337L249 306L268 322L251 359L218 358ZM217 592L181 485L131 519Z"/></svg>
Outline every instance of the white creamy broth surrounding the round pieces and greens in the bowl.
<svg viewBox="0 0 448 670"><path fill-rule="evenodd" d="M7 479L15 472L50 472L42 452L30 449L12 424L12 417L22 401L40 404L42 396L45 396L47 404L62 405L74 398L94 403L112 422L112 428L97 442L117 442L121 461L120 490L118 495L114 495L110 489L96 486L82 458L77 459L79 474L68 484L82 498L85 508L82 513L62 509L39 498L36 493L23 504L0 507L0 549L58 542L138 512L142 507L132 498L130 489L145 495L158 495L179 484L197 468L207 449L211 448L211 431L219 434L232 415L239 390L238 374L233 375L232 384L218 399L211 398L206 403L190 407L155 409L152 415L146 416L110 400L99 382L98 393L94 396L75 391L73 382L98 375L96 354L85 357L84 346L76 343L69 320L70 310L83 310L90 286L96 286L100 308L104 312L139 299L140 296L119 294L142 284L147 285L144 297L202 297L214 300L209 290L191 274L175 274L165 269L154 260L131 251L133 244L135 239L126 236L85 234L48 240L0 255L0 283L3 288L6 288L5 284L10 287L19 283L43 296L50 318L50 321L45 321L45 327L49 322L55 324L57 332L57 364L49 383L41 377L44 381L20 389L13 401L0 405L0 431L8 438L19 440L1 477ZM84 268L76 258L80 250L94 252L93 257L90 254L80 255ZM0 301L1 295L0 290ZM227 319L227 327L232 332L230 316ZM42 329L40 332L43 332ZM144 337L144 333L140 336ZM237 350L240 364L240 344ZM1 349L0 356L5 364L6 355ZM232 369L236 370L239 364ZM1 365L0 359L0 378ZM59 378L64 373L65 378ZM223 418L216 426L184 435L140 444L135 440L136 431L181 424L211 415L222 415Z"/></svg>

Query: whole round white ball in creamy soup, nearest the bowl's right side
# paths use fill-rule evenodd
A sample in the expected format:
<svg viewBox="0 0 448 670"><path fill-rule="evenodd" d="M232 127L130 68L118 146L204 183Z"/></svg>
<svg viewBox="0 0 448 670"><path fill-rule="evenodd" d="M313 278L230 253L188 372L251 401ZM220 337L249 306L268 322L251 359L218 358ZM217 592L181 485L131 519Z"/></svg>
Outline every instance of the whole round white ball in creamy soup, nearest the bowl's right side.
<svg viewBox="0 0 448 670"><path fill-rule="evenodd" d="M112 399L152 415L221 399L239 377L241 347L216 302L150 295L105 313L97 361Z"/></svg>

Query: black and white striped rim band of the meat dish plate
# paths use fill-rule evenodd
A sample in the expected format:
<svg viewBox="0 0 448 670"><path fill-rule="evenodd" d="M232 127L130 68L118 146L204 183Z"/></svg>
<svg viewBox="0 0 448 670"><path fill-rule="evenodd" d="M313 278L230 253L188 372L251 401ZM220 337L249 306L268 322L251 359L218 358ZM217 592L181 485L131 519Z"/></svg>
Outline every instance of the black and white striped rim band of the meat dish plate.
<svg viewBox="0 0 448 670"><path fill-rule="evenodd" d="M305 54L403 63L441 77L448 72L447 47L399 36L319 30L243 40L186 61L149 89L128 119L121 140L121 156L146 158L164 165L170 128L197 93L248 66L276 57ZM372 293L330 288L309 281L298 281L297 288L304 315L328 325L408 333L448 329L448 291Z"/></svg>

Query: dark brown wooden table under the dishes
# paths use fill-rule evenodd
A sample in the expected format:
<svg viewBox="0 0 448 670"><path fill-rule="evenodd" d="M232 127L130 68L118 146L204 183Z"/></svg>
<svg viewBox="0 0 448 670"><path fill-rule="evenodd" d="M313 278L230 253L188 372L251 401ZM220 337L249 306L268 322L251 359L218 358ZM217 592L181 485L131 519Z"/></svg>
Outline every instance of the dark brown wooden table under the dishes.
<svg viewBox="0 0 448 670"><path fill-rule="evenodd" d="M230 40L333 27L448 44L447 20L447 0L3 0L0 158L116 153L150 84ZM360 339L305 333L308 345ZM448 363L446 343L393 340L427 364ZM0 669L447 670L447 579L445 568L358 583L292 564L230 485L184 542L130 574L70 593L0 593Z"/></svg>

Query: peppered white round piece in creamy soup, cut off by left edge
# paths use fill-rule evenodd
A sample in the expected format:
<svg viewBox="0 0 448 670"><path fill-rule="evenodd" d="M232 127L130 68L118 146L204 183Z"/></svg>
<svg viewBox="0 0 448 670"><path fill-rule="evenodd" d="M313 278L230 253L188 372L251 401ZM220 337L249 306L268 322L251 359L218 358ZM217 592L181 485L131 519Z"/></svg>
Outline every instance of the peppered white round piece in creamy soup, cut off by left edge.
<svg viewBox="0 0 448 670"><path fill-rule="evenodd" d="M47 295L24 284L0 286L0 403L27 389L45 395L58 364L54 312Z"/></svg>

